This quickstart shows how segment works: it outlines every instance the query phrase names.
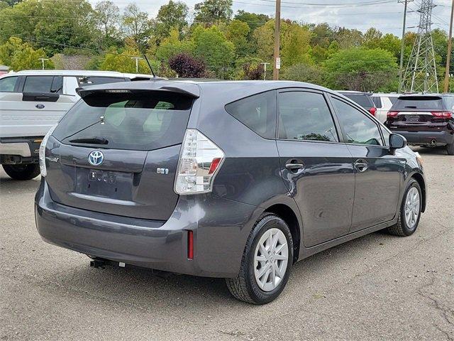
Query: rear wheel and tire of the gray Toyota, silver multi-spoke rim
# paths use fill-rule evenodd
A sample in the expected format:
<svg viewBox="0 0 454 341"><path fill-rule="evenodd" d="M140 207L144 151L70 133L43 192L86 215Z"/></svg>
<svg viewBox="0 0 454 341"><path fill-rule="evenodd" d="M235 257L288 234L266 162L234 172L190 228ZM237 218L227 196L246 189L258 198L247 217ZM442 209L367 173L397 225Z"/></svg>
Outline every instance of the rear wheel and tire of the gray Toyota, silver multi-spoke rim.
<svg viewBox="0 0 454 341"><path fill-rule="evenodd" d="M260 243L260 245L263 246L263 240L265 240L265 243L269 242L270 239L268 238L270 235L272 241L274 241L275 238L276 240L279 239L276 242L276 244L279 243L279 245L274 248L270 244L267 244L269 246L268 248L265 245L265 251L270 254L264 256L261 252L264 249L258 244ZM284 240L287 245L282 243ZM279 247L282 248L280 251L277 251L279 250ZM284 249L285 247L287 247L287 250ZM287 263L284 263L284 260L282 260L284 254L287 254ZM277 256L281 259L277 260ZM276 259L273 257L276 257ZM266 260L264 261L258 260L265 258ZM228 290L240 301L257 305L270 303L284 290L289 279L292 265L293 241L292 233L290 232L288 225L277 215L264 213L260 215L250 232L248 242L246 242L243 252L238 276L236 276L236 278L226 278ZM282 270L284 269L284 274L279 277L279 272L282 274ZM266 272L262 275L262 281L260 281L260 278L256 279L256 277L260 276L260 271L262 270ZM270 273L268 273L268 271L270 271ZM270 283L268 280L270 280ZM259 281L260 284L258 283ZM263 283L265 283L265 285Z"/></svg>

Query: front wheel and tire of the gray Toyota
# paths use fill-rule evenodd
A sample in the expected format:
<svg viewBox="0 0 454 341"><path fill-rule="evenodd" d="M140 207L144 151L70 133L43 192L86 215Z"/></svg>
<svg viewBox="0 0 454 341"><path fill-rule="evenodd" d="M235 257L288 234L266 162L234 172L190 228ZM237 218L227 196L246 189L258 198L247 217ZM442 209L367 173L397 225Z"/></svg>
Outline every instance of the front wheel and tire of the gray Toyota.
<svg viewBox="0 0 454 341"><path fill-rule="evenodd" d="M417 195L419 197L419 202L416 207L416 202L413 202L411 205L413 205L414 210L409 210L409 205L411 198L411 194L415 194L417 192ZM410 194L409 194L410 193ZM397 218L397 223L394 224L391 227L387 228L387 232L389 234L394 234L395 236L400 236L400 237L407 237L410 236L411 234L414 234L416 229L418 228L419 224L419 219L421 218L421 208L422 208L422 195L421 195L421 187L419 186L418 181L414 179L410 179L409 183L406 185L406 190L404 193L404 197L402 198L402 204L399 209L399 217ZM416 211L417 210L417 211ZM406 217L408 215L411 215L412 212L414 212L414 215L416 215L417 212L417 217L414 219L407 220Z"/></svg>

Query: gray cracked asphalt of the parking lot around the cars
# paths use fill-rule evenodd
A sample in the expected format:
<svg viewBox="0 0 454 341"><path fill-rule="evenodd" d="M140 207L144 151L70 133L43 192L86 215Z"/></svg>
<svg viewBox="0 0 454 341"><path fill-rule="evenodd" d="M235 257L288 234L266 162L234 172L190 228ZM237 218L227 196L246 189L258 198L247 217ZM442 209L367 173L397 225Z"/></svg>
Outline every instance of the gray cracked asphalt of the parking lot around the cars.
<svg viewBox="0 0 454 341"><path fill-rule="evenodd" d="M0 340L454 340L454 157L417 150L429 191L419 230L300 261L264 306L236 301L222 279L90 268L38 236L39 178L1 171Z"/></svg>

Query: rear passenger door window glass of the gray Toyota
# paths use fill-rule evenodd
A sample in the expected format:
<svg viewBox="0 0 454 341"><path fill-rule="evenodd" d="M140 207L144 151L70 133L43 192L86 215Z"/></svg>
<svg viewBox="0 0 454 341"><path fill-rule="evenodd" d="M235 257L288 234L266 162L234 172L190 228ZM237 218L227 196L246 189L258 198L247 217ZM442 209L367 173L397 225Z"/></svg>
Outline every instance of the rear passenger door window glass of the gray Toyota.
<svg viewBox="0 0 454 341"><path fill-rule="evenodd" d="M279 139L339 141L323 94L279 93Z"/></svg>

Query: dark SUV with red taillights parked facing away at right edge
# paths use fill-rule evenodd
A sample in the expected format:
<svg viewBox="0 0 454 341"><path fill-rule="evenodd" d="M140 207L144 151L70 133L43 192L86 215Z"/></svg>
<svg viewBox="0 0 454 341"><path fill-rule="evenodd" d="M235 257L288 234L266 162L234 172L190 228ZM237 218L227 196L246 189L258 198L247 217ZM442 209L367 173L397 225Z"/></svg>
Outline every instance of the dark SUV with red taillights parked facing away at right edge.
<svg viewBox="0 0 454 341"><path fill-rule="evenodd" d="M414 146L445 146L454 155L454 95L404 95L387 114L385 125Z"/></svg>

